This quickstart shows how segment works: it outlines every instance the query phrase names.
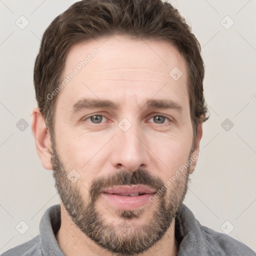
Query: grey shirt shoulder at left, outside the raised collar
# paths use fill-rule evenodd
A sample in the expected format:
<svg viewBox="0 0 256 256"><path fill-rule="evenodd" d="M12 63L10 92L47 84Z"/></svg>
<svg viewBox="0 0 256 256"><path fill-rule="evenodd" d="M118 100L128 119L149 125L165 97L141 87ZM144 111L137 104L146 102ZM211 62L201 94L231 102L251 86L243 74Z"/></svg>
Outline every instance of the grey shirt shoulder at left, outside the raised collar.
<svg viewBox="0 0 256 256"><path fill-rule="evenodd" d="M30 256L30 255L33 255L33 256L42 255L39 235L1 254L1 256Z"/></svg>

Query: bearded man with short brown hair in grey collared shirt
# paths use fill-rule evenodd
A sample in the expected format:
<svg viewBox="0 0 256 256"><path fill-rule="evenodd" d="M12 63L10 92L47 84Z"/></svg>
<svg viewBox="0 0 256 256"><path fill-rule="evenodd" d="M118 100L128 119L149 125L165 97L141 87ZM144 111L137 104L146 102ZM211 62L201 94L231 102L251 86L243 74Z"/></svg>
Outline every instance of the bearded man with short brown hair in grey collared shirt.
<svg viewBox="0 0 256 256"><path fill-rule="evenodd" d="M204 66L160 0L82 0L44 32L32 132L60 205L7 255L254 255L182 203L200 155Z"/></svg>

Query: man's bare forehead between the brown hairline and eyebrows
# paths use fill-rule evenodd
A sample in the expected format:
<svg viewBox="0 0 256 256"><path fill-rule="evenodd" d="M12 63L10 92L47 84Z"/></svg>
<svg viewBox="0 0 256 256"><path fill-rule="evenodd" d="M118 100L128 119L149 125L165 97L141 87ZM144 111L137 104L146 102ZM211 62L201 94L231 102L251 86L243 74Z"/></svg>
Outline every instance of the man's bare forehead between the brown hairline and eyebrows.
<svg viewBox="0 0 256 256"><path fill-rule="evenodd" d="M58 96L69 105L88 96L124 100L129 95L143 99L157 93L175 99L187 92L185 69L183 57L167 41L119 35L89 40L70 48L62 81L74 75Z"/></svg>

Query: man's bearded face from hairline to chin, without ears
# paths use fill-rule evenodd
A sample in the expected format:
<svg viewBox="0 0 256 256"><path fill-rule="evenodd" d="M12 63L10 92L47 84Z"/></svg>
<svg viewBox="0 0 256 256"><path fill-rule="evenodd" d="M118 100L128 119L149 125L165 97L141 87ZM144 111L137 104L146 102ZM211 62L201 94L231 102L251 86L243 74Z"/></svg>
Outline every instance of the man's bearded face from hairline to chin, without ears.
<svg viewBox="0 0 256 256"><path fill-rule="evenodd" d="M73 71L55 110L61 201L97 244L142 252L166 232L187 189L189 168L171 179L192 153L185 62L168 42L115 36L73 46L64 77Z"/></svg>

